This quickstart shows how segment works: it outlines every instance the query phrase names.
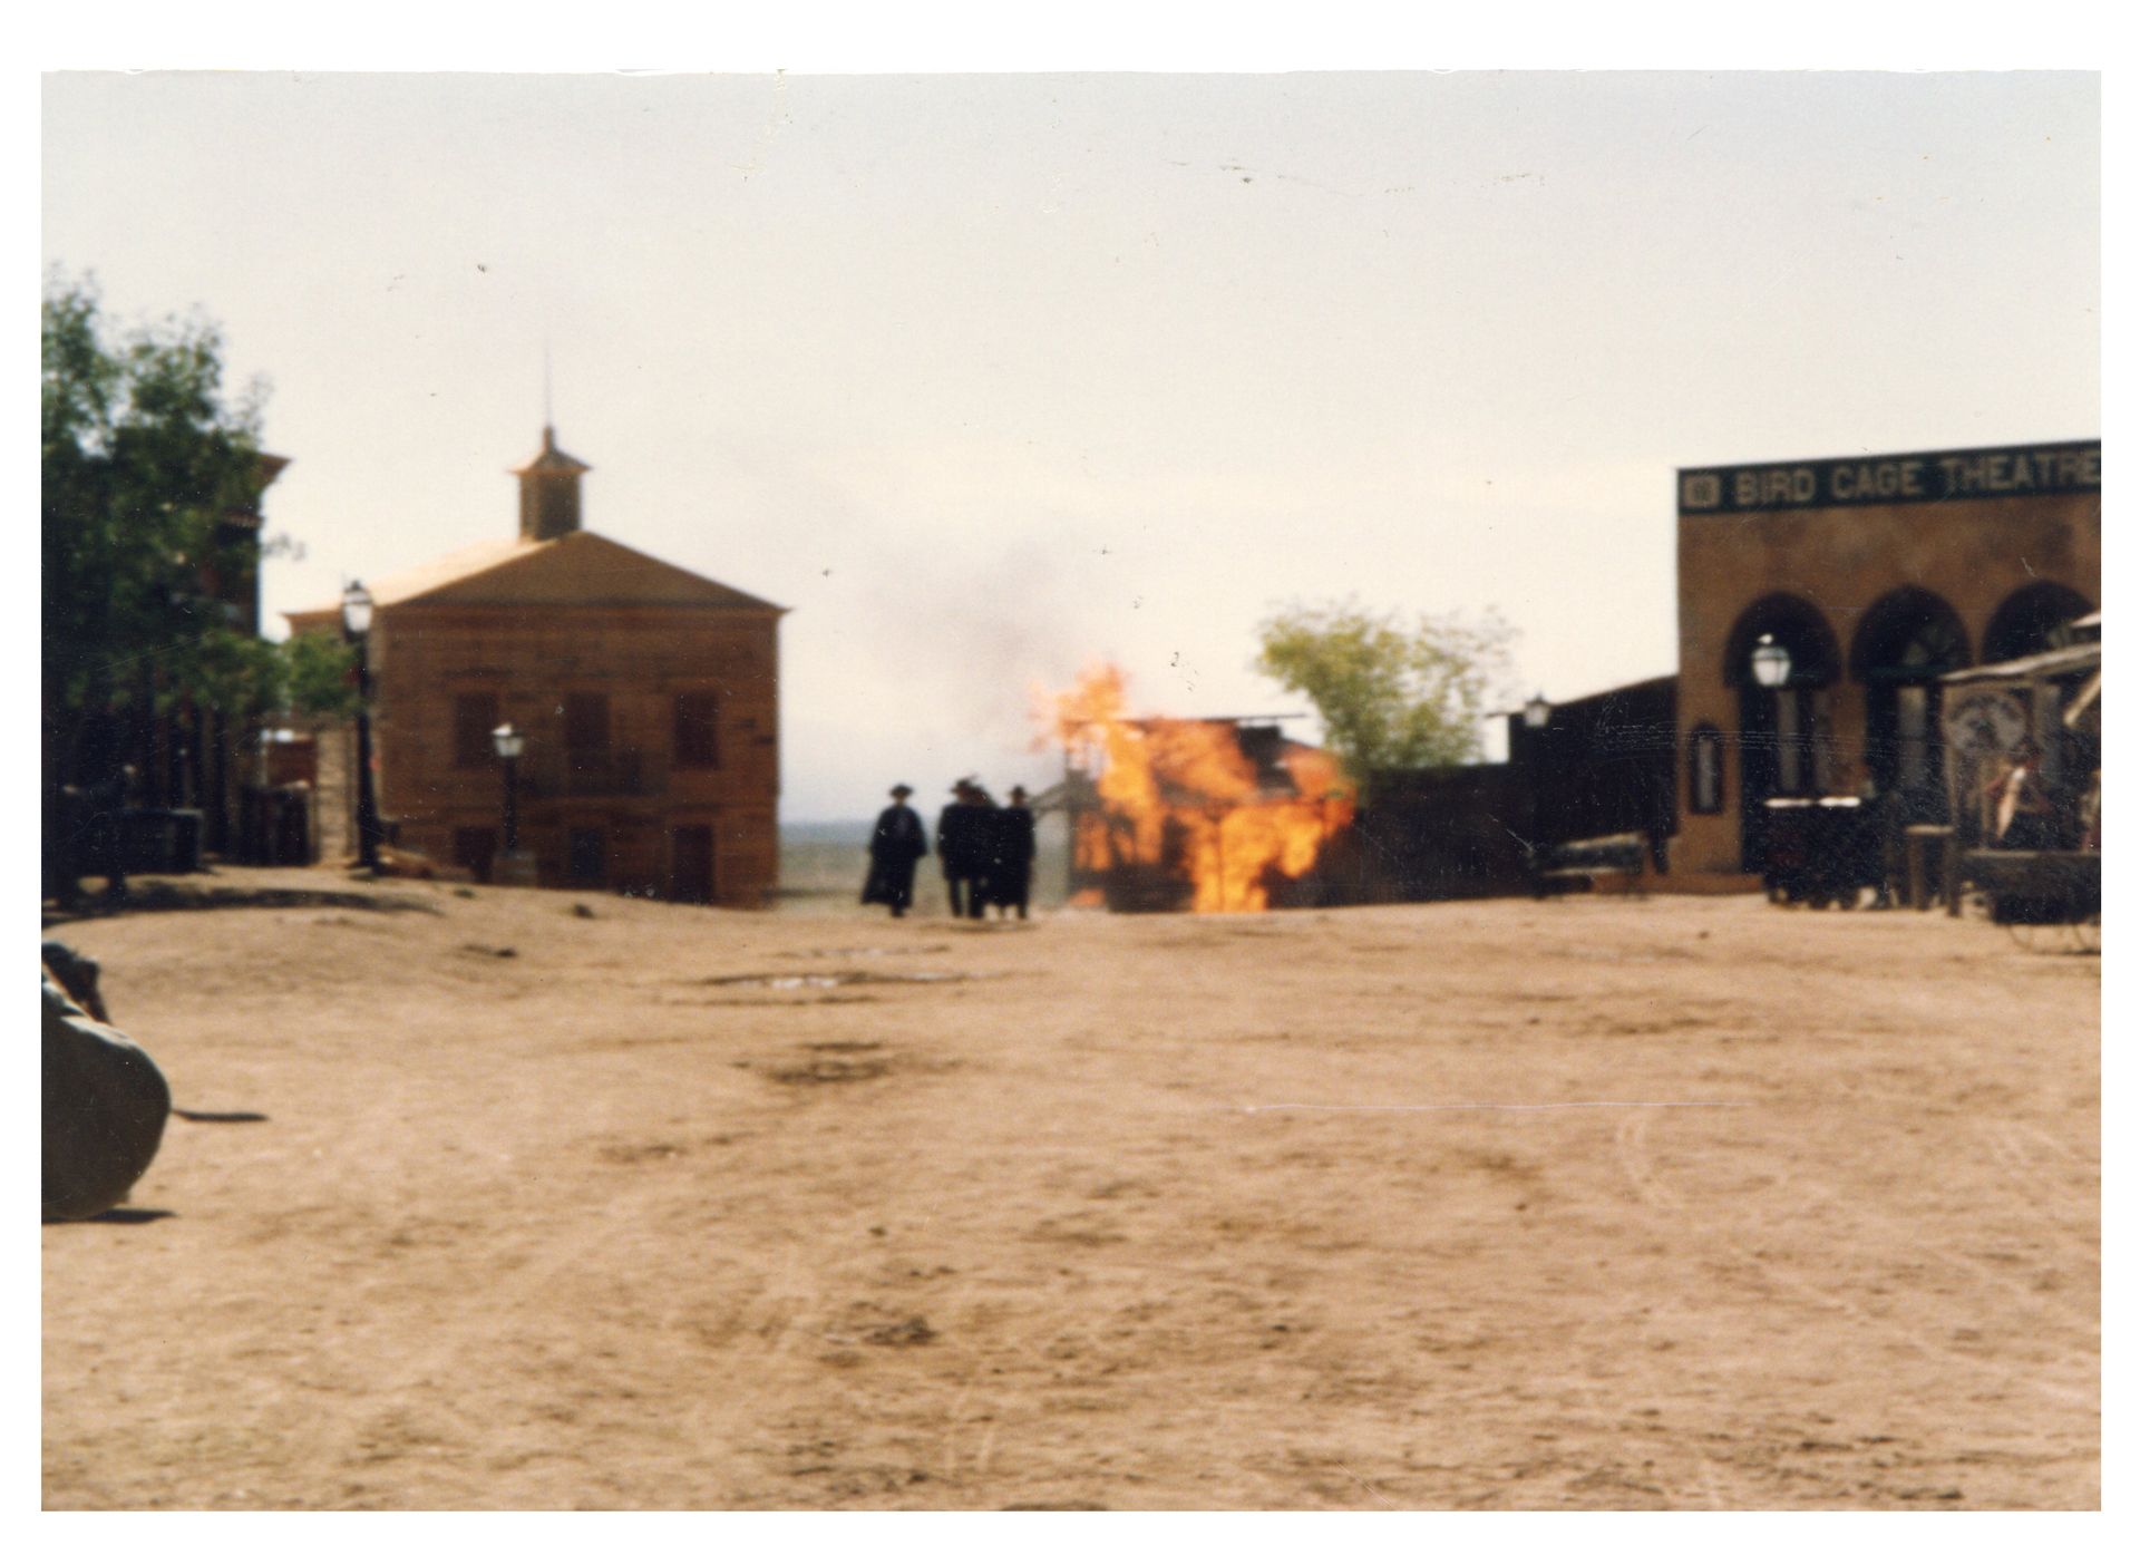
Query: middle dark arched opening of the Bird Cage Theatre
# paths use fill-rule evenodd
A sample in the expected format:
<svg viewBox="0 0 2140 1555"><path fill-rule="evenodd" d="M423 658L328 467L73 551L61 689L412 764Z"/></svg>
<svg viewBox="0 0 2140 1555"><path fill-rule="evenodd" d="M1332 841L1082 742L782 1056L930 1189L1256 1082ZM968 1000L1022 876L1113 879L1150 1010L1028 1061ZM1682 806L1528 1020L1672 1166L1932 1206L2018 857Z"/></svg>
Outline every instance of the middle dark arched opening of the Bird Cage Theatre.
<svg viewBox="0 0 2140 1555"><path fill-rule="evenodd" d="M1866 689L1866 770L1909 821L1945 815L1939 676L1969 663L1969 633L1939 595L1896 588L1858 622L1851 678Z"/></svg>

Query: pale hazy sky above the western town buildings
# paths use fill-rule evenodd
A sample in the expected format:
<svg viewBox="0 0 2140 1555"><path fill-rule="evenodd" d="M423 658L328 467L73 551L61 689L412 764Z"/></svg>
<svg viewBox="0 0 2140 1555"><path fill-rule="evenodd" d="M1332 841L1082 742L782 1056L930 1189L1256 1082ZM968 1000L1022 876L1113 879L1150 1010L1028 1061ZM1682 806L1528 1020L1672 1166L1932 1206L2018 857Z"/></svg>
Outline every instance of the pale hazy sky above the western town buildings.
<svg viewBox="0 0 2140 1555"><path fill-rule="evenodd" d="M783 819L1297 710L1288 599L1669 674L1678 466L2101 434L2080 73L47 75L43 173L272 381L270 616L511 535L548 342L586 526L794 612Z"/></svg>

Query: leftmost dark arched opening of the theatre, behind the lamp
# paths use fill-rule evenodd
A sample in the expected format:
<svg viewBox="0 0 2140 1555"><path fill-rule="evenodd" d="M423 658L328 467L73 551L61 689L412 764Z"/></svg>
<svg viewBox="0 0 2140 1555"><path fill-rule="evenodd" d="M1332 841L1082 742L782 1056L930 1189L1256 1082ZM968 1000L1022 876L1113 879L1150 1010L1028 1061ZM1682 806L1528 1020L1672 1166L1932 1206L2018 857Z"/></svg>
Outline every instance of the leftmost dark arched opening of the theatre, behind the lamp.
<svg viewBox="0 0 2140 1555"><path fill-rule="evenodd" d="M1821 791L1828 687L1836 682L1840 661L1828 618L1798 595L1757 599L1725 640L1723 678L1740 693L1744 871L1759 871L1768 858L1766 800Z"/></svg>

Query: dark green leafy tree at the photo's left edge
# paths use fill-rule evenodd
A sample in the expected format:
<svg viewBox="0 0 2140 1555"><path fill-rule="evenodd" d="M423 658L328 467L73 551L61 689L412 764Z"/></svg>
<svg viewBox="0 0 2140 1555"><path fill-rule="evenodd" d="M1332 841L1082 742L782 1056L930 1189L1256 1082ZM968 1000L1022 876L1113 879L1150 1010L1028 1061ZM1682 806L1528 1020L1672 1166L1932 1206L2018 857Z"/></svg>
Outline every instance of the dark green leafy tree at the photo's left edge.
<svg viewBox="0 0 2140 1555"><path fill-rule="evenodd" d="M218 539L259 496L255 385L223 385L201 317L113 327L92 280L51 272L43 297L43 798L47 881L60 789L107 781L126 719L190 702L250 717L280 706L291 659L216 597L259 554ZM58 847L64 853L64 847ZM71 886L71 881L66 881Z"/></svg>

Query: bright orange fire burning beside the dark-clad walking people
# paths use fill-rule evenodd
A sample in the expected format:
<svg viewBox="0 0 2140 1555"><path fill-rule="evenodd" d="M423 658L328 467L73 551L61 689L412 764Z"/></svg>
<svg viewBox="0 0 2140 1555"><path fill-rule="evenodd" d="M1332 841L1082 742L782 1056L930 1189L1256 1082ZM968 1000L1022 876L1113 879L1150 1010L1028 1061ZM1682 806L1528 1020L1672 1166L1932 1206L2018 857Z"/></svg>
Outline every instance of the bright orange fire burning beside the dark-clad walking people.
<svg viewBox="0 0 2140 1555"><path fill-rule="evenodd" d="M1338 761L1233 719L1130 719L1121 672L1087 669L1053 697L1070 766L1072 883L1111 907L1260 913L1352 823Z"/></svg>

